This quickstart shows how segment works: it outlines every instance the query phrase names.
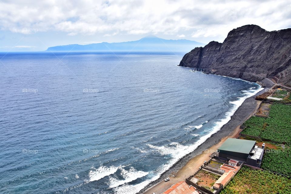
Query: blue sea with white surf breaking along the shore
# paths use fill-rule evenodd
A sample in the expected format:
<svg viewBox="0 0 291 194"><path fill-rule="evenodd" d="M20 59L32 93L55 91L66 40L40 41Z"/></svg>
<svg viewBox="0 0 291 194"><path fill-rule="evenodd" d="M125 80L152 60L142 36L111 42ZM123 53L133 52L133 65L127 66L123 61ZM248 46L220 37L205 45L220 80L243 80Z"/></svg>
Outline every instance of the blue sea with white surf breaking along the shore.
<svg viewBox="0 0 291 194"><path fill-rule="evenodd" d="M0 53L0 193L134 194L262 89L183 54Z"/></svg>

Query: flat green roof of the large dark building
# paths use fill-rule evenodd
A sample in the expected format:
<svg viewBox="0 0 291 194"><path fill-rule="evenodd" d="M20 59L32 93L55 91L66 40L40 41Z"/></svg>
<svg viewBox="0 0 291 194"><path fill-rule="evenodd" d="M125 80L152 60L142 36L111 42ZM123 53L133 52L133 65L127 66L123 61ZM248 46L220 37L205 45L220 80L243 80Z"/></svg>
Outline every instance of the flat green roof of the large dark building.
<svg viewBox="0 0 291 194"><path fill-rule="evenodd" d="M228 138L218 150L249 154L255 144L252 140Z"/></svg>

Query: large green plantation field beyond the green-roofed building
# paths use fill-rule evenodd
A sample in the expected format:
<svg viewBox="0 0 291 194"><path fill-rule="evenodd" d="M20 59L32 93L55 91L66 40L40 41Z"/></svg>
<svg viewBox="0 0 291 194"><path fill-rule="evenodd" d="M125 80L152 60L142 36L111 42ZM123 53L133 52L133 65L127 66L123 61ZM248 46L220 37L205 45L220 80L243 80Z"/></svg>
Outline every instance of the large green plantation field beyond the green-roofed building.
<svg viewBox="0 0 291 194"><path fill-rule="evenodd" d="M291 143L291 106L275 103L269 118L251 117L243 125L242 134L259 136L273 142Z"/></svg>

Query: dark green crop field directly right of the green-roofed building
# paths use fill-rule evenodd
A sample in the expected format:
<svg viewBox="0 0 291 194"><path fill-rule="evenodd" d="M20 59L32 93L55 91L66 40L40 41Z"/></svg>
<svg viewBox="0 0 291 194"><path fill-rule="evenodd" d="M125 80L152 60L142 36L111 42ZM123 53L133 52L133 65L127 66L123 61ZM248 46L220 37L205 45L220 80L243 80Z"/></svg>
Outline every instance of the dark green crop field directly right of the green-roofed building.
<svg viewBox="0 0 291 194"><path fill-rule="evenodd" d="M291 148L286 146L282 150L266 150L262 168L291 177Z"/></svg>

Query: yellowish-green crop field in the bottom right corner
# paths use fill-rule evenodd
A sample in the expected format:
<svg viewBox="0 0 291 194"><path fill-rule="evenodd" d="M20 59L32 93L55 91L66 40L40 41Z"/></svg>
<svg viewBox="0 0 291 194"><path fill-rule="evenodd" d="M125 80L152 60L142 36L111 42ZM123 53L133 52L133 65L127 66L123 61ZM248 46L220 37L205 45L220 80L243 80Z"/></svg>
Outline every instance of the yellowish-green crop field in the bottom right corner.
<svg viewBox="0 0 291 194"><path fill-rule="evenodd" d="M268 171L243 166L221 194L286 194L291 193L291 180Z"/></svg>

